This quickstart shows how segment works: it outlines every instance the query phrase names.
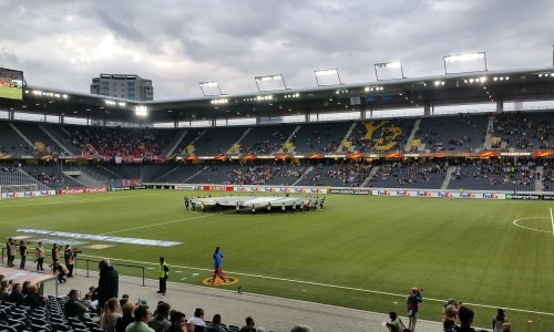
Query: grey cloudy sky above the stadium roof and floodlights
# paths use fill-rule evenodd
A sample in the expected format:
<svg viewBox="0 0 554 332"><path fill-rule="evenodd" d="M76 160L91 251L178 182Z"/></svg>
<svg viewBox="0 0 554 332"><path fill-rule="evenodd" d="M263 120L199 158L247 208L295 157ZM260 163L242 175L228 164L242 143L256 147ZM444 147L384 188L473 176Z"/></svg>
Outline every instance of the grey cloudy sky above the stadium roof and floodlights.
<svg viewBox="0 0 554 332"><path fill-rule="evenodd" d="M486 52L489 70L552 65L552 0L0 0L0 66L29 84L89 92L100 73L152 79L155 100L257 92L255 76L316 86L376 81L400 60L408 77L444 73L443 55Z"/></svg>

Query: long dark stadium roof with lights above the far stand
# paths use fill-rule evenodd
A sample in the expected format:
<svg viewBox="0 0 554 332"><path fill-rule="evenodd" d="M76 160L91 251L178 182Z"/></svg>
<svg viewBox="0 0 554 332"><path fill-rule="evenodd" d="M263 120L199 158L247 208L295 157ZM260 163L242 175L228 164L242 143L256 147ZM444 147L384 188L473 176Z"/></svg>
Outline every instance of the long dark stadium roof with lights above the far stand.
<svg viewBox="0 0 554 332"><path fill-rule="evenodd" d="M546 100L554 100L552 66L153 102L27 85L22 101L0 100L0 105L53 116L167 123ZM137 110L147 116L137 116Z"/></svg>

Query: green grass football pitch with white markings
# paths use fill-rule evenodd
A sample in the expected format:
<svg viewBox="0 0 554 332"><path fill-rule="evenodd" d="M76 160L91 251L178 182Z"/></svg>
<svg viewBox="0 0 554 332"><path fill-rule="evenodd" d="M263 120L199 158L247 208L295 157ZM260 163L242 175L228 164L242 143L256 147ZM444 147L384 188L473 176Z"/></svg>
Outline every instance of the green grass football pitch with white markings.
<svg viewBox="0 0 554 332"><path fill-rule="evenodd" d="M444 301L455 298L475 311L474 324L483 328L490 328L497 308L506 309L516 331L546 331L554 322L554 203L326 195L325 208L309 212L185 210L183 197L198 195L208 194L135 190L4 199L0 231L4 238L30 236L31 249L38 239L74 240L18 229L182 242L153 247L80 239L86 243L75 246L83 250L79 269L83 259L107 257L145 266L146 277L156 279L164 256L171 281L203 286L219 246L224 271L238 280L222 288L406 315L406 295L416 286L423 289L423 319L440 321ZM86 248L100 243L113 246ZM92 262L91 269L95 273Z"/></svg>

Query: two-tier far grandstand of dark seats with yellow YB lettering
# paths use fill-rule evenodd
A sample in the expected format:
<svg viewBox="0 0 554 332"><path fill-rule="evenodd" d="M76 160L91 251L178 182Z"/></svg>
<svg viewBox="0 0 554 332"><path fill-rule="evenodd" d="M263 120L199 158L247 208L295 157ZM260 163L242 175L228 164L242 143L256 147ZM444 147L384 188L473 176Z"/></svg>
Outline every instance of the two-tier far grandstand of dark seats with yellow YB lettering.
<svg viewBox="0 0 554 332"><path fill-rule="evenodd" d="M271 124L211 128L122 128L79 125L37 124L0 121L0 152L12 155L8 168L20 164L22 156L37 162L23 162L17 173L0 172L1 185L40 183L40 189L82 187L84 184L62 174L80 170L86 185L112 185L121 179L143 183L208 183L243 185L317 185L366 186L387 188L434 188L480 190L553 190L552 163L548 158L500 162L471 160L463 156L422 163L325 159L257 158L245 165L235 160L189 162L191 155L230 154L235 156L335 153L404 153L429 152L520 152L552 149L554 117L548 112L512 112L492 115L458 114L422 118L389 118L365 122L324 122L307 124ZM16 129L14 129L16 128ZM21 135L20 135L21 133ZM413 134L413 136L412 136ZM28 141L25 141L25 137ZM409 142L410 141L410 142ZM30 143L31 142L31 143ZM47 152L32 144L41 142ZM419 143L412 145L411 143ZM286 151L284 148L286 147ZM408 149L408 151L404 151ZM88 164L42 162L43 154L101 155ZM183 163L164 160L165 154L186 155ZM102 156L109 156L102 162ZM156 155L156 158L150 158ZM114 156L131 159L115 160ZM193 156L194 157L194 156ZM143 162L144 159L144 162ZM123 164L119 164L123 162ZM130 162L134 162L131 163ZM544 164L543 174L530 162ZM136 163L136 164L135 164ZM158 164L154 164L158 163ZM294 164L293 164L294 163ZM38 164L37 166L31 164ZM513 164L513 165L512 165ZM53 166L57 165L57 166ZM360 167L362 165L362 167ZM370 167L373 166L373 168ZM449 166L455 165L451 174ZM377 166L377 167L375 167ZM24 170L28 174L25 174ZM40 170L40 172L39 172ZM370 173L371 176L370 176ZM448 180L447 180L448 178ZM38 180L37 180L38 179ZM115 180L115 183L114 183ZM83 180L84 181L84 177ZM542 184L542 185L541 185Z"/></svg>

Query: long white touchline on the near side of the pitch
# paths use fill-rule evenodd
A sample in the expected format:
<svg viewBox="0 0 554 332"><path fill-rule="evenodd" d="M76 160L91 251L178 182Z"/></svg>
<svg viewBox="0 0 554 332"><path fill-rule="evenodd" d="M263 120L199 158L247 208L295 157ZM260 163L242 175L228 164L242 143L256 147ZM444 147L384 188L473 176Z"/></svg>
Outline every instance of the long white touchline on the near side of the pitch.
<svg viewBox="0 0 554 332"><path fill-rule="evenodd" d="M91 258L98 258L98 259L107 258L112 262L115 260L115 261L132 262L132 263L140 263L140 264L153 264L153 266L157 266L158 264L156 262L146 262L146 261L137 261L137 260L129 260L129 259L109 258L109 257L100 257L100 256L91 256L91 255L81 255L81 256L91 257ZM174 264L172 264L172 267L179 268L179 269L196 270L196 271L208 271L211 273L213 272L213 269L184 267L184 266L174 266ZM252 277L252 278L260 278L260 279L267 279L267 280L294 282L294 283L300 283L300 284L319 286L319 287L334 288L334 289L351 290L351 291L357 291L357 292L366 292L366 293L390 295L390 297L397 297L397 298L403 298L403 299L406 299L406 293L403 293L403 294L397 294L397 293L391 293L391 292L376 291L376 290L369 290L369 289L362 289L362 288L353 288L353 287L337 286L337 284L329 284L329 283L320 283L320 282L312 282L312 281L304 281L304 280L296 280L296 279L277 278L277 277L260 276L260 274L242 273L242 272L234 272L234 271L225 271L225 273L227 273L227 274L230 273L230 274L244 276L244 277ZM424 301L431 301L431 302L440 302L440 303L444 303L444 301L445 301L444 299L432 299L432 298L424 298L423 300ZM478 304L478 303L469 303L469 302L463 302L463 303L470 304L470 305L473 305L473 307L481 307L481 308L489 308L489 309L497 309L497 308L500 308L499 305ZM517 311L517 312L526 312L526 313L534 313L534 314L554 317L554 313L551 313L551 312L524 310L524 309L516 309L516 308L505 308L505 307L503 307L503 308L505 310L510 310L510 311Z"/></svg>

